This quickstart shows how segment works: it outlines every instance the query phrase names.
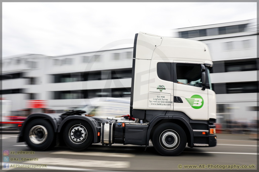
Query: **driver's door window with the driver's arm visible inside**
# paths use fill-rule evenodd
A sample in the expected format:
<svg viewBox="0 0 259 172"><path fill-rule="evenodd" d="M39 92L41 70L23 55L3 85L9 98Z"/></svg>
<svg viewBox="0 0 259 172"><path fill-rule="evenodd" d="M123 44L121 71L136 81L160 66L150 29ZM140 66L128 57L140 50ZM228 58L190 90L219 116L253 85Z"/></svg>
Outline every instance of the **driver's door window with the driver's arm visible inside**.
<svg viewBox="0 0 259 172"><path fill-rule="evenodd" d="M176 63L175 66L178 84L202 87L202 68L200 64Z"/></svg>

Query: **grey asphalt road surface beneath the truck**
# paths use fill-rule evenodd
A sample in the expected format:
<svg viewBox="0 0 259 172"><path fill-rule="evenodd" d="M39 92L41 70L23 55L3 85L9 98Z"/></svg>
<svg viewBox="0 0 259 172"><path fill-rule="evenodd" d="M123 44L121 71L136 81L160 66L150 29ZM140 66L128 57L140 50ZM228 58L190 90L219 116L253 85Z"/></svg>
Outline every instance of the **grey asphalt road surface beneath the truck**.
<svg viewBox="0 0 259 172"><path fill-rule="evenodd" d="M100 143L92 144L86 151L75 152L67 147L54 147L49 151L35 151L34 154L11 154L18 151L31 151L26 143L16 143L17 134L2 134L2 150L8 150L9 168L3 170L28 168L11 168L10 165L41 165L49 170L186 170L184 165L255 165L257 156L257 142L249 135L217 134L217 146L206 148L186 147L183 153L176 157L164 157L158 154L152 143L145 150L145 146L113 144L102 146ZM11 158L38 158L33 161L11 161ZM6 165L6 164L5 164ZM3 166L2 166L3 167ZM201 167L201 166L200 166ZM220 166L218 166L220 167ZM223 167L222 167L223 168ZM231 166L230 166L231 168ZM233 167L234 168L234 167ZM34 169L34 168L30 168ZM39 169L39 167L36 169ZM203 168L208 170L211 168ZM215 168L214 168L215 169Z"/></svg>

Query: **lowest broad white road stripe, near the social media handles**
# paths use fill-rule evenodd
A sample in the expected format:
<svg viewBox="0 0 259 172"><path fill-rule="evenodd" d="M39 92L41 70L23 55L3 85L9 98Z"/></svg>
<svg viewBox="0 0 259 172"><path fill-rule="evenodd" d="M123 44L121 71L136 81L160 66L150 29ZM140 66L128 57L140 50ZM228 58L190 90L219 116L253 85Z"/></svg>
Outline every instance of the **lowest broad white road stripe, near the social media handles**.
<svg viewBox="0 0 259 172"><path fill-rule="evenodd" d="M81 167L107 167L107 168L129 168L128 161L99 161L69 158L39 158L38 161L26 161L28 164L47 164L61 166L81 166Z"/></svg>

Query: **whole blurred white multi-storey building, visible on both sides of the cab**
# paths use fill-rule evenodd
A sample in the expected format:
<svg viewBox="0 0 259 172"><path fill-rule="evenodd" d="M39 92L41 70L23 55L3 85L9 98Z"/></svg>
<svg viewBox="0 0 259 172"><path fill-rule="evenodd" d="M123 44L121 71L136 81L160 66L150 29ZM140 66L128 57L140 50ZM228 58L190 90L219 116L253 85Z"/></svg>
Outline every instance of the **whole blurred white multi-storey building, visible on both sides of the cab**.
<svg viewBox="0 0 259 172"><path fill-rule="evenodd" d="M256 119L256 26L252 19L174 29L174 36L203 41L210 48L219 123ZM133 48L5 58L2 96L12 101L12 113L62 113L95 97L130 99L132 58Z"/></svg>

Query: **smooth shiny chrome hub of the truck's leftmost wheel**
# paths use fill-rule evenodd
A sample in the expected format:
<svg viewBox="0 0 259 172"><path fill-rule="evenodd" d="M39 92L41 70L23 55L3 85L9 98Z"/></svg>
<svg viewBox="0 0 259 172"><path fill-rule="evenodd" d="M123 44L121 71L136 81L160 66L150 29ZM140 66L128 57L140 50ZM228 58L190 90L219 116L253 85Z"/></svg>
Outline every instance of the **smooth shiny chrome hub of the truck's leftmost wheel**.
<svg viewBox="0 0 259 172"><path fill-rule="evenodd" d="M46 141L48 137L48 131L43 126L34 126L29 131L29 138L34 144L42 144Z"/></svg>

